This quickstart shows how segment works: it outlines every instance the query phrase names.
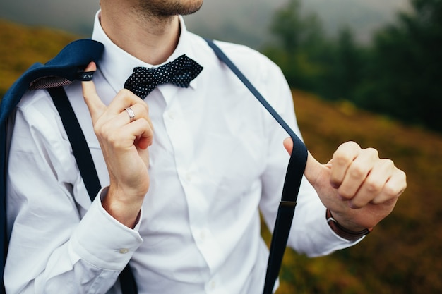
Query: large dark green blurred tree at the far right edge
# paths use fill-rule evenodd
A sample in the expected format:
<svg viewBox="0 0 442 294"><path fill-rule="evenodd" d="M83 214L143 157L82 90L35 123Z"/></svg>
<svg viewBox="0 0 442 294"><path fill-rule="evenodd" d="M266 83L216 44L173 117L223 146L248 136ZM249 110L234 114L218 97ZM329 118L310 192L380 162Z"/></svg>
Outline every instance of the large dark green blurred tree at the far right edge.
<svg viewBox="0 0 442 294"><path fill-rule="evenodd" d="M376 35L357 104L441 131L442 1L412 0L412 8Z"/></svg>

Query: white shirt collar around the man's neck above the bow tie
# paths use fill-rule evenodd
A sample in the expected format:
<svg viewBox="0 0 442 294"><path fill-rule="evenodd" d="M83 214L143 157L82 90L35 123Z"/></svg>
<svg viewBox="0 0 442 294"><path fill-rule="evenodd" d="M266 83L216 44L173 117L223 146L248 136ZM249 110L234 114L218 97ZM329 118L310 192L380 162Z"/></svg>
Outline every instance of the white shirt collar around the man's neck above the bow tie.
<svg viewBox="0 0 442 294"><path fill-rule="evenodd" d="M107 37L106 33L102 29L100 23L100 13L101 11L98 11L95 15L92 39L104 44L103 55L98 67L104 75L104 78L107 80L107 82L109 82L109 85L111 85L115 92L119 92L119 90L124 88L124 82L126 82L127 78L129 78L129 75L132 74L133 68L135 68L136 66L155 68L169 61L173 61L183 54L186 54L191 59L194 59L198 62L198 58L196 57L196 54L193 53L191 47L191 42L189 39L190 33L187 31L186 25L184 24L184 19L181 16L179 16L181 33L179 36L177 48L174 50L172 55L169 56L165 63L153 66L141 61L140 59L137 59L136 57L132 56L131 54L127 53L116 44L114 44L112 40ZM196 88L197 79L198 77L191 81L190 87L194 89Z"/></svg>

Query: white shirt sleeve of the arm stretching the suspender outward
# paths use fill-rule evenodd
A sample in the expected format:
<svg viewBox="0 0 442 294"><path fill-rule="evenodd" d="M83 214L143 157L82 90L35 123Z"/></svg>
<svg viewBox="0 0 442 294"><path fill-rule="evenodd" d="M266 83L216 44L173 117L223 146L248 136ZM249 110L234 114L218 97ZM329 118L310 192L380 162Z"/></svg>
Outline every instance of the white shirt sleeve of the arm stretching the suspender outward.
<svg viewBox="0 0 442 294"><path fill-rule="evenodd" d="M266 67L265 70L260 71L261 73L266 73L263 76L263 80L256 83L256 85L259 85L264 97L268 97L270 104L272 104L277 113L285 119L302 140L294 114L292 92L280 68L277 68L270 61L268 61ZM289 161L289 154L287 154L282 145L285 137L289 137L285 130L282 129L274 118L269 118L268 165L262 175L263 197L260 209L270 231L273 231ZM325 218L325 207L316 191L306 178L303 177L289 235L289 247L292 247L297 252L313 257L327 255L335 250L350 247L355 243L357 242L350 242L340 238L330 229Z"/></svg>

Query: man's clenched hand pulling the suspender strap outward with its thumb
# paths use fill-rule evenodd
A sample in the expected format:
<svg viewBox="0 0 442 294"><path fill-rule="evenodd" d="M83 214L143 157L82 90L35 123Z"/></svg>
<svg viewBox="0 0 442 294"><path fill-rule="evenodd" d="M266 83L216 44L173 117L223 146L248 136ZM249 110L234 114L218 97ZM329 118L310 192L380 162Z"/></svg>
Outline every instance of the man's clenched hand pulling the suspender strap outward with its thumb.
<svg viewBox="0 0 442 294"><path fill-rule="evenodd" d="M293 142L284 141L287 152ZM346 142L328 164L310 154L304 176L330 209L334 219L350 231L372 228L392 212L407 187L406 176L390 159L379 159L376 149Z"/></svg>

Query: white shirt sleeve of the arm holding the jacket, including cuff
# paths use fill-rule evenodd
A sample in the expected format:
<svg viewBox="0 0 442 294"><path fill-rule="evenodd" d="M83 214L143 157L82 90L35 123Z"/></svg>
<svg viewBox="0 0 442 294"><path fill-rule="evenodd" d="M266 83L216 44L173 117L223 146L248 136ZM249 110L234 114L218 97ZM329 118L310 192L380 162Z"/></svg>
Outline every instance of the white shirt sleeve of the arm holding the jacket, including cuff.
<svg viewBox="0 0 442 294"><path fill-rule="evenodd" d="M45 91L23 97L8 129L6 292L106 293L143 240L100 195L80 212L88 195Z"/></svg>

